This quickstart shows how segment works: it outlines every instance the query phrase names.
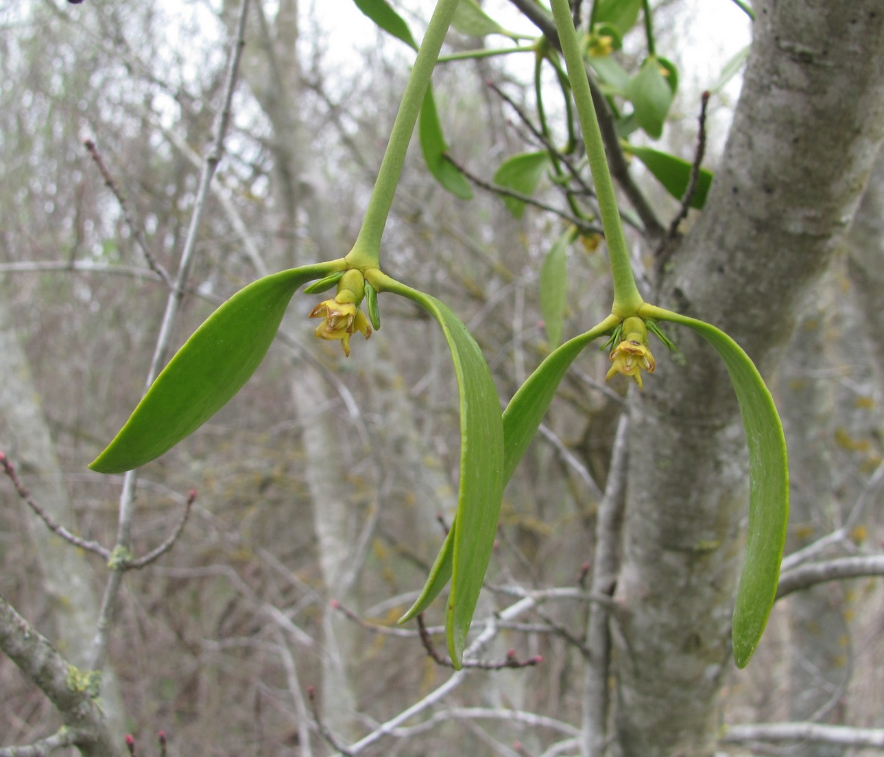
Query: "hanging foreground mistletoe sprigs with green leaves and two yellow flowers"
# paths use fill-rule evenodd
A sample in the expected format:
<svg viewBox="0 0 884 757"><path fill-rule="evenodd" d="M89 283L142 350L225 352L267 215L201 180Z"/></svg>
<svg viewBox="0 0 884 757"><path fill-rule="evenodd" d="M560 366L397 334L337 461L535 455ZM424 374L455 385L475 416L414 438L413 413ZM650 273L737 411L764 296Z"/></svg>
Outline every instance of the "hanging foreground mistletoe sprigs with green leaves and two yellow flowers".
<svg viewBox="0 0 884 757"><path fill-rule="evenodd" d="M380 26L417 47L408 27L383 0L356 0L356 4ZM537 433L568 367L592 341L606 337L606 344L612 348L608 378L621 373L641 387L643 373L652 373L656 364L648 344L649 333L672 348L658 322L684 325L699 333L724 360L749 443L749 539L733 618L734 657L743 667L758 644L773 606L785 540L789 485L781 423L758 370L734 340L713 325L644 302L639 294L568 0L552 0L552 11L607 241L614 289L610 315L553 350L501 415L491 371L466 326L445 303L382 270L381 237L419 115L424 156L431 171L455 194L469 194L463 190L461 174L446 160L430 80L455 12L460 13L461 23L465 13L466 22L474 25L484 24L487 17L469 0L438 0L417 51L353 249L337 260L271 274L232 295L172 357L117 436L89 467L104 473L133 470L163 455L205 423L254 373L293 294L309 282L314 283L305 288L307 294L335 287L334 296L319 302L310 317L321 318L316 336L339 340L346 355L350 353L351 337L358 333L368 339L372 329L380 327L378 294L398 294L415 302L438 322L451 350L460 400L461 475L451 530L423 592L400 622L423 612L450 581L446 640L454 665L460 667L491 559L504 486ZM502 33L499 27L492 30ZM592 50L592 46L583 45L583 50L587 49ZM654 71L659 72L659 68ZM649 78L651 74L644 76ZM368 315L362 310L363 302Z"/></svg>

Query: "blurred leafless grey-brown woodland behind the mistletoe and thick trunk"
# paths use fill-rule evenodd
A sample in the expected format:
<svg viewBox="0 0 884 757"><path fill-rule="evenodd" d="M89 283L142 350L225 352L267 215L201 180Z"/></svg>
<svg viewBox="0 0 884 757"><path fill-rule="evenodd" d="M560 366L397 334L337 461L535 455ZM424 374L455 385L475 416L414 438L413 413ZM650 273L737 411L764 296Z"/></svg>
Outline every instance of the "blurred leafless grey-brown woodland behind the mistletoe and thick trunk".
<svg viewBox="0 0 884 757"><path fill-rule="evenodd" d="M714 42L720 34L697 21L706 4L655 4L658 48L681 73L657 146L688 161L701 91L751 36L746 15L719 0L718 24L739 33ZM346 33L330 21L332 5L331 16L356 19ZM393 5L422 29L433 4ZM537 34L509 3L484 8ZM168 293L157 271L175 270L187 233L238 10L226 0L0 4L0 451L34 501L108 547L120 478L86 466L144 389ZM307 0L255 0L249 11L176 346L249 281L342 256L358 231L413 58L354 4L326 0L319 10ZM629 70L642 34L638 24L617 53ZM492 42L452 32L446 52L484 44ZM387 270L469 325L504 401L549 351L538 282L566 224L537 207L516 218L486 186L505 158L538 149L520 115L536 118L532 75L530 53L438 67L446 138L476 177L475 196L466 202L439 187L415 139L385 233ZM713 171L738 92L739 74L710 102ZM560 96L547 99L561 136ZM667 225L678 201L637 161L631 170ZM535 196L567 217L559 187L544 181ZM765 371L793 466L788 551L827 538L814 554L876 554L884 539L882 210L884 169L777 352L777 371ZM646 283L652 249L633 236ZM604 245L588 234L568 250L565 338L604 317L610 298ZM597 535L611 528L598 511L636 387L628 395L625 379L606 384L606 354L587 350L507 488L476 615L477 631L488 633L480 657L542 662L454 674L433 661L413 624L395 626L456 504L457 390L442 334L388 297L383 328L356 337L344 358L337 343L313 338L306 318L316 302L296 295L245 389L141 471L135 554L162 544L188 492L197 497L171 551L126 574L103 692L112 728L133 734L143 755L158 753L159 730L169 753L187 757L581 753L592 593L611 593L591 570ZM657 357L658 373L680 370L662 348ZM50 534L8 478L0 502L0 593L88 667L105 561ZM868 739L802 740L808 730L784 744L739 728L828 723L880 738L882 596L879 579L858 577L778 602L749 667L728 669L720 683L720 753L874 753ZM431 608L434 634L441 617ZM413 718L379 730L420 702ZM0 654L0 753L59 725ZM629 752L615 742L607 739L611 753Z"/></svg>

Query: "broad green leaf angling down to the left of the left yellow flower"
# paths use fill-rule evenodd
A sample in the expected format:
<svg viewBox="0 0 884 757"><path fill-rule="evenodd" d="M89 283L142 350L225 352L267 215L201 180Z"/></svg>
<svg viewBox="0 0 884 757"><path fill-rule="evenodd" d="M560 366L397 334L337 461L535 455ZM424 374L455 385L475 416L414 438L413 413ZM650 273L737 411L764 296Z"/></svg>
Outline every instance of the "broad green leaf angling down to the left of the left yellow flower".
<svg viewBox="0 0 884 757"><path fill-rule="evenodd" d="M196 431L255 372L298 287L342 265L340 260L293 268L240 289L172 357L89 468L99 473L133 470Z"/></svg>

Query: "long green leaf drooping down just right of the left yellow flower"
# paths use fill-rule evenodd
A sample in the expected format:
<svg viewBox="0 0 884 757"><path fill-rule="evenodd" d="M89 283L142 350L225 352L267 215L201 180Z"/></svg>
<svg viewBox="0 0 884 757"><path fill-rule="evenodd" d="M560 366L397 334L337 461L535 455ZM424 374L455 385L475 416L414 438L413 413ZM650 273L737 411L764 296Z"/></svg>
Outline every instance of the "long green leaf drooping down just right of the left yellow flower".
<svg viewBox="0 0 884 757"><path fill-rule="evenodd" d="M442 327L454 363L461 401L461 480L457 514L446 543L451 541L451 592L446 608L448 654L461 667L469 624L485 570L497 537L500 501L503 498L503 424L500 402L488 363L467 327L444 302L385 277L373 279L379 290L400 294L416 302ZM431 577L406 618L420 612L447 580L446 547L431 570ZM429 600L426 597L429 596Z"/></svg>

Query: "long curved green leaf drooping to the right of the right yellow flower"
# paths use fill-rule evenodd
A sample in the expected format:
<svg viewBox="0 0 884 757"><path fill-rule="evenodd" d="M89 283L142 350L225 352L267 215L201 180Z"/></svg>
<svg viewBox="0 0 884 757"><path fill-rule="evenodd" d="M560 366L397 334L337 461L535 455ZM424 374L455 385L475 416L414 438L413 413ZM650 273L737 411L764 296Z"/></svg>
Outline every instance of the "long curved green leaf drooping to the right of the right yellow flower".
<svg viewBox="0 0 884 757"><path fill-rule="evenodd" d="M724 360L749 444L749 539L736 590L732 638L738 668L749 661L773 608L789 521L789 458L773 397L750 357L728 334L695 318L643 306L642 315L690 327Z"/></svg>

